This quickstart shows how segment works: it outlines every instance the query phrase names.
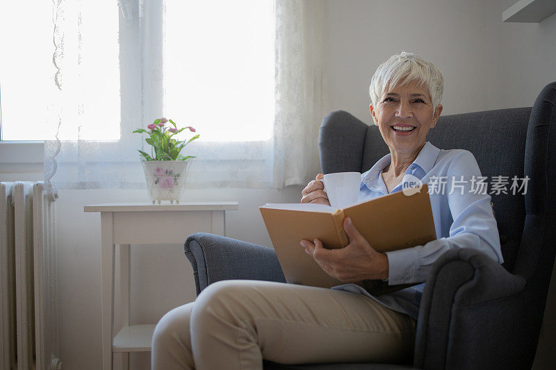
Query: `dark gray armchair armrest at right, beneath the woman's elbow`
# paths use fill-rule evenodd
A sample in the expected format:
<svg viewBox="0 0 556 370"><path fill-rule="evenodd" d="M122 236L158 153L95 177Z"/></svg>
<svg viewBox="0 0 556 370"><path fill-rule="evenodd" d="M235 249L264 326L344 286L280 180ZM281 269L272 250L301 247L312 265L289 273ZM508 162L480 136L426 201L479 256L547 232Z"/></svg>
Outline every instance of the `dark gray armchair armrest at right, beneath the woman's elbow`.
<svg viewBox="0 0 556 370"><path fill-rule="evenodd" d="M475 249L442 255L427 276L420 303L414 365L530 368L523 363L519 339L526 331L524 287L524 278Z"/></svg>

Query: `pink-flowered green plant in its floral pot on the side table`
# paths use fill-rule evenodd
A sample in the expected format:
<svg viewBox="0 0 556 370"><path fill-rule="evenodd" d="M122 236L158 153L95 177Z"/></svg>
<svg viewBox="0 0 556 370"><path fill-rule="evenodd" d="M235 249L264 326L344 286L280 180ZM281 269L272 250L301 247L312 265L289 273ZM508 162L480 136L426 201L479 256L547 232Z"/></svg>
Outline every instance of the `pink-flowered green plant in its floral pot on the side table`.
<svg viewBox="0 0 556 370"><path fill-rule="evenodd" d="M177 140L175 136L184 130L195 133L195 128L191 126L178 128L172 119L159 118L149 124L147 130L138 128L133 131L149 135L145 142L151 146L151 153L139 153L153 204L155 201L160 204L165 200L179 203L190 163L195 158L193 155L183 156L180 153L187 144L199 137L197 134L189 140Z"/></svg>

